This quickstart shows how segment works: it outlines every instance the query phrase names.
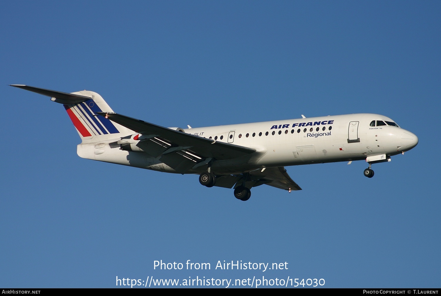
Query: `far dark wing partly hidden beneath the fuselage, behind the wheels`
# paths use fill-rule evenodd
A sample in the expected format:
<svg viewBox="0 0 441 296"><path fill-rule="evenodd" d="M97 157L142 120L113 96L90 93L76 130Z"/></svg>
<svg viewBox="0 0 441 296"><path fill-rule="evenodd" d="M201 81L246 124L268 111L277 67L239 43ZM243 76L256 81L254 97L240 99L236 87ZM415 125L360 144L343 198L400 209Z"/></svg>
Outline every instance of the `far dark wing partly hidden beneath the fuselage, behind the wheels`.
<svg viewBox="0 0 441 296"><path fill-rule="evenodd" d="M248 188L266 184L284 190L302 190L302 188L291 179L283 166L266 168L263 172L261 169L258 169L243 175L220 176L217 177L214 186L232 188L235 184L237 184L236 186L242 185L244 179L245 186Z"/></svg>

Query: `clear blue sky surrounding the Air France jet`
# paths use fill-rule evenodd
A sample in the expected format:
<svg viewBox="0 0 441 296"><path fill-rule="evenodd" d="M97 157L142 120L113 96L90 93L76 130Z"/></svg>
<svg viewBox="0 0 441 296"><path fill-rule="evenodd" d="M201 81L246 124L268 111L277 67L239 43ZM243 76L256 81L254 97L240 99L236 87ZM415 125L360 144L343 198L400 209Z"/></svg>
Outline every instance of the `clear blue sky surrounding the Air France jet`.
<svg viewBox="0 0 441 296"><path fill-rule="evenodd" d="M0 286L116 277L323 278L439 287L437 1L4 1ZM419 137L389 163L288 167L303 190L232 190L85 160L63 106L15 89L93 90L167 127L379 113ZM154 270L153 262L211 270ZM215 270L218 261L288 270Z"/></svg>

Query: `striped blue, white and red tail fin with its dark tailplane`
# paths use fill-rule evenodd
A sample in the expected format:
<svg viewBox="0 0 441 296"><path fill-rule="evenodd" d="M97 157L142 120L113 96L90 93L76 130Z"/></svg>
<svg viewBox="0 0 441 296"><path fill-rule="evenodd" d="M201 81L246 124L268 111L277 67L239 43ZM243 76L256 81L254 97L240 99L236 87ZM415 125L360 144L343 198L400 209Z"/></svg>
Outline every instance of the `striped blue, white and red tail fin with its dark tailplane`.
<svg viewBox="0 0 441 296"><path fill-rule="evenodd" d="M11 86L43 94L51 97L52 101L63 104L82 142L115 139L135 133L103 116L97 116L97 112L113 112L113 110L99 94L93 91L82 90L74 93L64 93L21 84Z"/></svg>

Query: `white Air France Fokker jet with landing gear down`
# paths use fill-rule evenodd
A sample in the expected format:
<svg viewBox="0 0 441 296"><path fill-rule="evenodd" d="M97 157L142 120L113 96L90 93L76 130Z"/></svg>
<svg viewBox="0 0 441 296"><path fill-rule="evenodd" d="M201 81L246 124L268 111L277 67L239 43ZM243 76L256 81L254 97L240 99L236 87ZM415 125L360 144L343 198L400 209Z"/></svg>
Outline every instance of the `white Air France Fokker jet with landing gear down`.
<svg viewBox="0 0 441 296"><path fill-rule="evenodd" d="M250 199L252 187L302 190L285 166L364 160L391 161L418 137L378 114L347 114L213 127L162 127L113 112L97 93L64 93L13 84L64 105L81 143L79 157L179 174L198 174L206 187L234 187Z"/></svg>

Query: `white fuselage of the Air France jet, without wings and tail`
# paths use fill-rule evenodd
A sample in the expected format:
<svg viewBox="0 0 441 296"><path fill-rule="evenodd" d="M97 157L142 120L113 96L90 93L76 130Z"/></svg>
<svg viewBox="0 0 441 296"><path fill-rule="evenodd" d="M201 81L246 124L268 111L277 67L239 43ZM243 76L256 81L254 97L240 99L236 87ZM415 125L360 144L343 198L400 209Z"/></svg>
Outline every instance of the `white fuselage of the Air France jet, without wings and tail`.
<svg viewBox="0 0 441 296"><path fill-rule="evenodd" d="M256 149L246 157L214 161L215 174L234 174L259 168L314 163L365 160L387 157L410 150L418 143L413 133L392 125L370 126L372 121L393 122L378 114L348 114L277 120L250 124L183 129L186 133L215 141ZM132 136L133 139L133 136ZM144 152L117 149L109 139L78 145L83 158L130 165L163 172L175 172ZM134 141L136 142L136 141ZM202 172L203 168L188 173Z"/></svg>

